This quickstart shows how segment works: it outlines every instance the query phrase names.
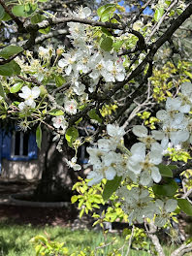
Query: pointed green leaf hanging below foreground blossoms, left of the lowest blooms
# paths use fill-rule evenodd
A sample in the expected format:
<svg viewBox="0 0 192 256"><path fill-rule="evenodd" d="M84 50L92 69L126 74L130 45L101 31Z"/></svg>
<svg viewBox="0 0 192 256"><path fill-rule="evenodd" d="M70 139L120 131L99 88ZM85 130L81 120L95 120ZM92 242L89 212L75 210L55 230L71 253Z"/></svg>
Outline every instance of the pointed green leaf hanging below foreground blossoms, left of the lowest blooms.
<svg viewBox="0 0 192 256"><path fill-rule="evenodd" d="M120 185L121 179L122 179L122 176L114 176L112 180L107 181L104 188L103 195L102 195L105 201L112 196L113 192L116 191L116 189Z"/></svg>

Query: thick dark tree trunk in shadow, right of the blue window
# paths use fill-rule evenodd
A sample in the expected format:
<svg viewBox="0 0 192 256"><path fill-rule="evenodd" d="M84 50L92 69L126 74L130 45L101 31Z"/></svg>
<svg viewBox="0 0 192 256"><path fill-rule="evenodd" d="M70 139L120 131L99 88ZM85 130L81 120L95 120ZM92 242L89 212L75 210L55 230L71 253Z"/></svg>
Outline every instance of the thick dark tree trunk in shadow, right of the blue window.
<svg viewBox="0 0 192 256"><path fill-rule="evenodd" d="M64 152L56 149L56 144L52 143L50 134L45 136L47 140L44 157L42 177L34 191L34 200L40 202L59 202L71 200L72 186L78 180L73 170L69 170L64 157L70 158L72 152L64 147Z"/></svg>

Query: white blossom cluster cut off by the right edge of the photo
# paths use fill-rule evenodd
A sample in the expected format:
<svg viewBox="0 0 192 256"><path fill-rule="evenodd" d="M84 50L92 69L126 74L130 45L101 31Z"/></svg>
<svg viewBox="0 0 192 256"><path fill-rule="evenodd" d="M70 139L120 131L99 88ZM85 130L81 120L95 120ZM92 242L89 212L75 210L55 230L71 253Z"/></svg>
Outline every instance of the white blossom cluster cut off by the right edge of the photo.
<svg viewBox="0 0 192 256"><path fill-rule="evenodd" d="M161 141L164 149L169 142L174 146L187 142L192 143L191 123L189 112L192 108L192 84L184 82L180 86L181 93L176 98L168 98L166 110L156 113L157 118L162 122L162 130L152 131L152 136Z"/></svg>

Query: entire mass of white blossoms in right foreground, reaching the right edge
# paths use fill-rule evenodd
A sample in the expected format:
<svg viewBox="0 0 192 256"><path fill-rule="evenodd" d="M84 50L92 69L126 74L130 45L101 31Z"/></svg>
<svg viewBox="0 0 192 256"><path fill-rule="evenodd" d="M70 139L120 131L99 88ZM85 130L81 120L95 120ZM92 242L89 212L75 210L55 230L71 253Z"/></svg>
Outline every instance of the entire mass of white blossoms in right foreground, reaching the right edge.
<svg viewBox="0 0 192 256"><path fill-rule="evenodd" d="M133 127L133 133L141 142L133 144L130 150L122 145L123 128L112 124L107 125L107 138L100 139L97 147L87 148L89 163L93 166L87 176L91 179L89 185L99 183L104 177L112 180L114 176L122 176L125 184L132 186L130 189L120 186L117 190L130 223L134 220L144 222L144 218L155 216L156 225L161 227L168 221L170 212L176 209L175 199L155 200L148 188L162 178L158 165L162 163L168 144L192 143L192 83L184 82L180 88L181 93L176 98L167 99L166 110L156 113L161 121L159 130L149 135L143 125Z"/></svg>

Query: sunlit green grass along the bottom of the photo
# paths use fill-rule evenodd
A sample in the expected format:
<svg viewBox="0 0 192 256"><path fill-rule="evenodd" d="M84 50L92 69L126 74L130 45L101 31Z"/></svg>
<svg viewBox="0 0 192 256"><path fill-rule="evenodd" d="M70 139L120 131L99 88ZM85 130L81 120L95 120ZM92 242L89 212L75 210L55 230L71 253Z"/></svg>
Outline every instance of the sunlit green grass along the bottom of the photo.
<svg viewBox="0 0 192 256"><path fill-rule="evenodd" d="M86 246L92 249L99 246L104 241L102 232L94 232L88 230L71 231L61 227L33 227L30 225L11 225L8 223L0 223L0 256L34 256L35 250L29 240L37 235L44 235L45 231L50 236L50 240L65 241L65 246L69 251L77 252ZM124 240L117 235L111 234L108 241L116 236L117 241L113 247L119 248ZM107 255L108 250L112 248L112 244L106 248L103 256ZM171 254L173 248L166 248L166 256ZM131 256L147 256L145 252L131 251ZM189 254L188 254L189 255ZM99 255L100 256L100 255Z"/></svg>

